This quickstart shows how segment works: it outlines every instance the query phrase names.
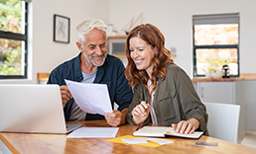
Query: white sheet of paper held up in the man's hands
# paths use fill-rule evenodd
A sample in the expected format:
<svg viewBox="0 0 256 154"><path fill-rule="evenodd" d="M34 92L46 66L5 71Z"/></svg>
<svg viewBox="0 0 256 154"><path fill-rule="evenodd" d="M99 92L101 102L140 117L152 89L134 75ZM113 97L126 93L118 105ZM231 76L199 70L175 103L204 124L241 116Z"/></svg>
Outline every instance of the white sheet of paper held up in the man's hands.
<svg viewBox="0 0 256 154"><path fill-rule="evenodd" d="M106 84L86 84L64 80L75 103L85 113L113 113Z"/></svg>

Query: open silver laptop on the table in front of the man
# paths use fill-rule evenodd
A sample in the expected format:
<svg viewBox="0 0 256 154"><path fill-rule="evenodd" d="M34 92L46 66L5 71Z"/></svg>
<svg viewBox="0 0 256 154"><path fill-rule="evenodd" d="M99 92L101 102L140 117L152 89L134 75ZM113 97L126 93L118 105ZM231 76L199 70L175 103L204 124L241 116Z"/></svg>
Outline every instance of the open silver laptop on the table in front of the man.
<svg viewBox="0 0 256 154"><path fill-rule="evenodd" d="M0 131L67 133L59 85L0 84Z"/></svg>

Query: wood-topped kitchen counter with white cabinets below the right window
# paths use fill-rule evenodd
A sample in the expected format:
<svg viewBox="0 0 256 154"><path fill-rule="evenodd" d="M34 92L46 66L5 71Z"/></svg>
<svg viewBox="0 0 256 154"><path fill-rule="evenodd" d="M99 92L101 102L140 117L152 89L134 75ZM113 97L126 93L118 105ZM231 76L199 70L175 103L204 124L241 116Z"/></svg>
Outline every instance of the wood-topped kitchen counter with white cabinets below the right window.
<svg viewBox="0 0 256 154"><path fill-rule="evenodd" d="M240 105L242 129L256 130L256 122L251 122L256 117L256 73L229 79L194 78L192 84L201 102Z"/></svg>

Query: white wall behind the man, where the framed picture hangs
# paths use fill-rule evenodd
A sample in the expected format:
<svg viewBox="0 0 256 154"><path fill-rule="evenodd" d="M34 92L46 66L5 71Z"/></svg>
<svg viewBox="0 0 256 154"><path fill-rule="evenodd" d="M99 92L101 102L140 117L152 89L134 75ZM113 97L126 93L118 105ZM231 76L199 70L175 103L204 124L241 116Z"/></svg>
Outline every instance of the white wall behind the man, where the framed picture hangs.
<svg viewBox="0 0 256 154"><path fill-rule="evenodd" d="M51 72L78 54L75 27L84 20L99 18L108 24L108 0L32 0L30 3L29 79L0 80L0 83L38 83L38 72ZM54 41L54 15L70 19L69 43Z"/></svg>

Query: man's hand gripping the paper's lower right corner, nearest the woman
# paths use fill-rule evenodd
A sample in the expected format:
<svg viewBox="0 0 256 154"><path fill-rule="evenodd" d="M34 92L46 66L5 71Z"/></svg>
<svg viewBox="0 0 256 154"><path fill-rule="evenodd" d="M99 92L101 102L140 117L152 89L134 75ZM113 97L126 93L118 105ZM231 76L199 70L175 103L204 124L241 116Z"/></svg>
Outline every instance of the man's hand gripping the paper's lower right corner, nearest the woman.
<svg viewBox="0 0 256 154"><path fill-rule="evenodd" d="M109 125L118 126L126 122L128 112L128 108L123 109L122 112L114 110L113 113L106 113L105 118Z"/></svg>

